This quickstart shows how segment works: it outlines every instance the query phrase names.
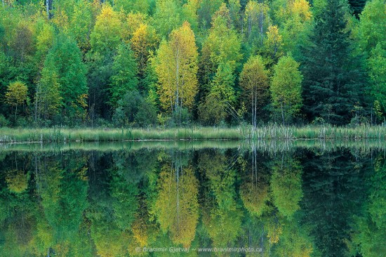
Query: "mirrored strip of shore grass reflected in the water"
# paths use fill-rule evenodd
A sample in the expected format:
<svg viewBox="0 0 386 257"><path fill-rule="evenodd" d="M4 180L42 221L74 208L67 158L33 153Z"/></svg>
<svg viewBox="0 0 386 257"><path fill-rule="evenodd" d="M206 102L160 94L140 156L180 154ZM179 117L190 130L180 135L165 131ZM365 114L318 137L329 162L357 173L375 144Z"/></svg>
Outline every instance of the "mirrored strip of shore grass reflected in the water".
<svg viewBox="0 0 386 257"><path fill-rule="evenodd" d="M135 152L146 149L189 151L201 149L237 149L241 152L258 150L275 154L293 152L298 148L312 151L334 152L342 148L355 151L356 154L368 154L375 151L386 151L382 140L139 140L122 142L69 142L69 143L4 143L0 144L0 154L4 152Z"/></svg>

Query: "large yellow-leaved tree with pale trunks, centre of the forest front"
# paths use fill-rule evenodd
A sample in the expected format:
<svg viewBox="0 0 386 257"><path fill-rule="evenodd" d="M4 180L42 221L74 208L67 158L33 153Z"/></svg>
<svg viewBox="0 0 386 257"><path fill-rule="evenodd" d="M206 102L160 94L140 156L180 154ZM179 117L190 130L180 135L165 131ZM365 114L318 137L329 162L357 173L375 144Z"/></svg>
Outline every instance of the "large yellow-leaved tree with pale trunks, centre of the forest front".
<svg viewBox="0 0 386 257"><path fill-rule="evenodd" d="M169 41L159 46L153 63L159 80L159 100L165 110L180 112L182 107L192 107L198 91L198 55L188 22L173 30Z"/></svg>

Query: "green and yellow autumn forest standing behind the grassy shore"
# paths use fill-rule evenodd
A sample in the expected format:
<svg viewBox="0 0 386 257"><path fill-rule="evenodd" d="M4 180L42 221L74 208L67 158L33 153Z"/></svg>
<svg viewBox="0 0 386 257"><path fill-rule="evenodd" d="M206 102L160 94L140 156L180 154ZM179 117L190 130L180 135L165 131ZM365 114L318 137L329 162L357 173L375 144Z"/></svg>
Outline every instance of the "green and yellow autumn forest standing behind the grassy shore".
<svg viewBox="0 0 386 257"><path fill-rule="evenodd" d="M0 126L385 124L385 0L2 0Z"/></svg>

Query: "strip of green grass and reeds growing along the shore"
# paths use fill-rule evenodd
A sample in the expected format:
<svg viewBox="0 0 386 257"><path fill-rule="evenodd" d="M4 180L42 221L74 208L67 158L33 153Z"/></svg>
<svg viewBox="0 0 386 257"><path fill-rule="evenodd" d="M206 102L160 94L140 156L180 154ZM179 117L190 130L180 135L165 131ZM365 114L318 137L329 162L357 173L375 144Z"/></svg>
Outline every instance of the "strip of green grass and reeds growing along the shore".
<svg viewBox="0 0 386 257"><path fill-rule="evenodd" d="M379 139L385 126L239 126L175 129L10 129L0 128L0 143L112 142L130 140Z"/></svg>

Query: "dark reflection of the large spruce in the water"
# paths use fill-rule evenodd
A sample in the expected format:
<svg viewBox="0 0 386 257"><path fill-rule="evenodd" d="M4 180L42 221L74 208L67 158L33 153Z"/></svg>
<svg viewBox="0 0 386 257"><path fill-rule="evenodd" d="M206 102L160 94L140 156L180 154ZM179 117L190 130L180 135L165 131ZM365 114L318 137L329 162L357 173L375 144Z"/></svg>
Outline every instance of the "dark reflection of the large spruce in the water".
<svg viewBox="0 0 386 257"><path fill-rule="evenodd" d="M347 150L310 152L304 159L302 221L314 237L318 256L348 256L353 217L361 215L370 159Z"/></svg>

